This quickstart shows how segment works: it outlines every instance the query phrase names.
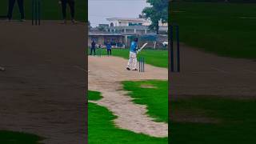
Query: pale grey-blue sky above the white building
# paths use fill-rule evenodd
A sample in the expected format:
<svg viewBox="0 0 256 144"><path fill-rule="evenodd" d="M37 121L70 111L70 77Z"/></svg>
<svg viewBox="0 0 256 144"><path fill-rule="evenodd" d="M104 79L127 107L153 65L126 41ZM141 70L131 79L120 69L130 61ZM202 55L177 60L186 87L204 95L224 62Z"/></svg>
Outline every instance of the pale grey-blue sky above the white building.
<svg viewBox="0 0 256 144"><path fill-rule="evenodd" d="M106 18L138 18L144 7L150 6L146 0L89 0L88 18L91 26L108 23Z"/></svg>

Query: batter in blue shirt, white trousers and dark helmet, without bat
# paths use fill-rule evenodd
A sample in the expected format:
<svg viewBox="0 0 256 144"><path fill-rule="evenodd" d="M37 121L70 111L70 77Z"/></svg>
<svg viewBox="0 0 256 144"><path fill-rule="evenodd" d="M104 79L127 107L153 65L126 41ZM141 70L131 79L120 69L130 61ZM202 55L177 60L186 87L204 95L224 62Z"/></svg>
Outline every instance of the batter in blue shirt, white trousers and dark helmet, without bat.
<svg viewBox="0 0 256 144"><path fill-rule="evenodd" d="M134 41L131 42L131 45L130 45L129 61L126 67L127 70L130 70L130 67L132 68L132 70L137 70L137 50L138 50L138 38L134 38Z"/></svg>

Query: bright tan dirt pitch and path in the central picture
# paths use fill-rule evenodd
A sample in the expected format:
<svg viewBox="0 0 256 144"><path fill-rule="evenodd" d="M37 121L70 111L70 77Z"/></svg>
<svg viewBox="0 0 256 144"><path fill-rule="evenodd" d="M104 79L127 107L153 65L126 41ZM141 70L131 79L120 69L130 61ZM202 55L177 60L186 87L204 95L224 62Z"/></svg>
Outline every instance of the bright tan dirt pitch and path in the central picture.
<svg viewBox="0 0 256 144"><path fill-rule="evenodd" d="M127 54L128 56L128 54ZM135 104L127 91L122 90L122 81L138 81L147 79L167 80L168 70L155 66L145 65L145 72L126 70L127 60L118 57L93 57L89 56L89 90L102 93L102 99L95 101L100 106L105 106L114 115L116 126L131 130L135 133L148 134L153 137L163 138L168 135L168 124L154 122L146 114L146 106ZM152 95L157 97L157 95ZM167 97L167 95L166 95ZM94 101L92 101L94 102Z"/></svg>

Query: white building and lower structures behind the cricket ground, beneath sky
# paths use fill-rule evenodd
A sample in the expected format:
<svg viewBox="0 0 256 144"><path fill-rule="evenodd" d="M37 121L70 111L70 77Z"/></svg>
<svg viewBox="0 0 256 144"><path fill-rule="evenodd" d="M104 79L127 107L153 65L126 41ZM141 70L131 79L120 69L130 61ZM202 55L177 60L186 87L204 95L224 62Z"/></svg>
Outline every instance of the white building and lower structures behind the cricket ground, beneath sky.
<svg viewBox="0 0 256 144"><path fill-rule="evenodd" d="M110 42L113 47L129 47L134 37L144 38L142 42L159 41L155 30L150 30L150 22L142 18L107 18L109 24L99 24L91 28L89 33L89 45L92 40L102 47ZM159 34L165 34L168 38L168 24L159 22ZM146 40L147 39L147 40ZM151 40L150 40L151 39ZM152 40L154 39L154 40ZM162 42L162 41L161 41Z"/></svg>

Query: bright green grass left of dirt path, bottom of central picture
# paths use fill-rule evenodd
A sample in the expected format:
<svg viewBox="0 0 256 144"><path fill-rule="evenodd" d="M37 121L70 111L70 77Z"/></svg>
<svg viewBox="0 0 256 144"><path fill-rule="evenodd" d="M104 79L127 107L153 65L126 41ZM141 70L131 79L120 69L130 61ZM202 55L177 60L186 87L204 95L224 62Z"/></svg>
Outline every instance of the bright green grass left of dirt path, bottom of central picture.
<svg viewBox="0 0 256 144"><path fill-rule="evenodd" d="M89 91L89 100L99 100L100 93ZM116 117L105 107L89 102L88 105L88 141L90 144L166 144L167 138L153 138L145 134L136 134L114 126Z"/></svg>

